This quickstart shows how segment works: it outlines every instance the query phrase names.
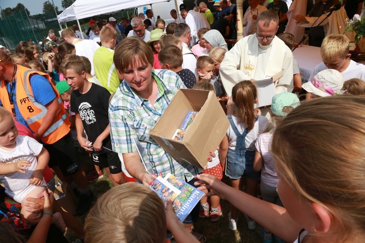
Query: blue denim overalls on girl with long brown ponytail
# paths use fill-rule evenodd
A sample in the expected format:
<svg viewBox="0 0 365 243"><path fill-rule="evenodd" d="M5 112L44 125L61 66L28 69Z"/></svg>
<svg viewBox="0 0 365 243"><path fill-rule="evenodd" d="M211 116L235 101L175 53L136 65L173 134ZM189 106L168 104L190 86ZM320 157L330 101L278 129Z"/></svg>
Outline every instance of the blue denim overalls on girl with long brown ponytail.
<svg viewBox="0 0 365 243"><path fill-rule="evenodd" d="M247 151L246 149L246 135L248 129L246 128L242 134L239 133L235 123L233 122L232 115L228 115L228 120L231 123L231 127L236 134L236 148L228 149L227 153L227 169L226 175L231 179L239 179L245 172L246 164L254 163L255 150ZM255 119L255 122L257 118Z"/></svg>

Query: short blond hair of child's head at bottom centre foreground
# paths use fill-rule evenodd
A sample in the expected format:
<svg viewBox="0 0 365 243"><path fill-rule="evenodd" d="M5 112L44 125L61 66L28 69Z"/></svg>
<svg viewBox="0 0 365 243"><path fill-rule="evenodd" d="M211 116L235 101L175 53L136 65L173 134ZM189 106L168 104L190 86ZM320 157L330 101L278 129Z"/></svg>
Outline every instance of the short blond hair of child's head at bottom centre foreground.
<svg viewBox="0 0 365 243"><path fill-rule="evenodd" d="M85 219L86 242L163 243L165 207L156 192L134 182L104 193Z"/></svg>

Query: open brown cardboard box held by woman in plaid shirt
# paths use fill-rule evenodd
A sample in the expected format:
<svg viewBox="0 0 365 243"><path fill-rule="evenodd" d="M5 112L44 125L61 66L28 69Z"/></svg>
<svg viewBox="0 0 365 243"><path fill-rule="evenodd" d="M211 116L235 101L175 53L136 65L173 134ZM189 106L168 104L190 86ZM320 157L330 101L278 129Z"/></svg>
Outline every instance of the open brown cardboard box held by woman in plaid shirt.
<svg viewBox="0 0 365 243"><path fill-rule="evenodd" d="M199 111L183 140L171 139L189 110ZM229 128L213 91L180 89L149 132L174 159L205 168L209 151L215 151Z"/></svg>

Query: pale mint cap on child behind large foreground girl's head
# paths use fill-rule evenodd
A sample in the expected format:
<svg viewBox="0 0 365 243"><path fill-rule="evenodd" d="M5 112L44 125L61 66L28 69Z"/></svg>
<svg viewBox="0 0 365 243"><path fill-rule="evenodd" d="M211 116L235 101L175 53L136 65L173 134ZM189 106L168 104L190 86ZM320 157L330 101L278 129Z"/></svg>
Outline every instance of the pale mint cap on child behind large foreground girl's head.
<svg viewBox="0 0 365 243"><path fill-rule="evenodd" d="M271 112L277 116L286 117L288 113L283 112L283 108L286 106L292 106L295 108L299 104L300 101L296 94L288 92L275 94L273 97L273 103L271 104Z"/></svg>

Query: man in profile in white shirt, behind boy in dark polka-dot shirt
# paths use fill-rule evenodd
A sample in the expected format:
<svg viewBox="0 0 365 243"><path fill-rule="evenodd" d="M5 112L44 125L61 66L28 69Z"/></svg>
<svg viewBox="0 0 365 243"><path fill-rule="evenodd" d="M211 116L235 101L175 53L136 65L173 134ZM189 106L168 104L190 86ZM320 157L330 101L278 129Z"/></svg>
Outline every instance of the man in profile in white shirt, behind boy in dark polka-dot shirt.
<svg viewBox="0 0 365 243"><path fill-rule="evenodd" d="M204 17L205 18L205 17ZM189 69L195 76L198 76L197 57L190 51L190 28L185 23L180 23L175 27L174 35L182 42L183 45L183 69Z"/></svg>

